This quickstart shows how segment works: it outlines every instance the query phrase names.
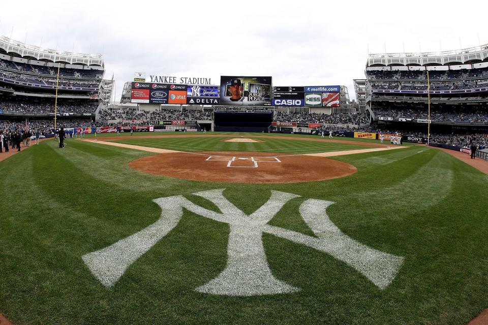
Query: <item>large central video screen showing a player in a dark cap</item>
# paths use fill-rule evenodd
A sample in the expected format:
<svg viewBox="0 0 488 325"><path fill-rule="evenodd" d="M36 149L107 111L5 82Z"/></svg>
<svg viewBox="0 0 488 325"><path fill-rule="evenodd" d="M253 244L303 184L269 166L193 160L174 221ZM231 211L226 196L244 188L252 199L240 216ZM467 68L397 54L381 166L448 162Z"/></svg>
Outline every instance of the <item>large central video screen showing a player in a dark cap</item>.
<svg viewBox="0 0 488 325"><path fill-rule="evenodd" d="M220 104L270 106L271 77L220 77Z"/></svg>

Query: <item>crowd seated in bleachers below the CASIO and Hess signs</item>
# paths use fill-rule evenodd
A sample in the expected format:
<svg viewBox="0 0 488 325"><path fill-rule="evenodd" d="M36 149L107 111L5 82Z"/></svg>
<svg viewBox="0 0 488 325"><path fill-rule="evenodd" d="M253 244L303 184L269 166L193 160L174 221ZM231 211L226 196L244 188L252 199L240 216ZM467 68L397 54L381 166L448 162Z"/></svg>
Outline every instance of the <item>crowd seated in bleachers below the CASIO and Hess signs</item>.
<svg viewBox="0 0 488 325"><path fill-rule="evenodd" d="M324 113L308 113L297 112L277 113L278 122L298 122L298 123L325 123L325 124L353 124L362 125L369 123L369 119L362 114L324 114Z"/></svg>

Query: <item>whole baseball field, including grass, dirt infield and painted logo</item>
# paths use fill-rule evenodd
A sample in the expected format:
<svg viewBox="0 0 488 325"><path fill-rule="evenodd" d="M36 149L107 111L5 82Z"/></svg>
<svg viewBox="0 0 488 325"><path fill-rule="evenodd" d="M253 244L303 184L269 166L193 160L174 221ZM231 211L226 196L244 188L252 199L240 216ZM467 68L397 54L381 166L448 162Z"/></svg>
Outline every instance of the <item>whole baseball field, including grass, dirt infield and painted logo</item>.
<svg viewBox="0 0 488 325"><path fill-rule="evenodd" d="M0 313L17 325L466 324L488 307L488 176L390 146L46 140L0 161Z"/></svg>

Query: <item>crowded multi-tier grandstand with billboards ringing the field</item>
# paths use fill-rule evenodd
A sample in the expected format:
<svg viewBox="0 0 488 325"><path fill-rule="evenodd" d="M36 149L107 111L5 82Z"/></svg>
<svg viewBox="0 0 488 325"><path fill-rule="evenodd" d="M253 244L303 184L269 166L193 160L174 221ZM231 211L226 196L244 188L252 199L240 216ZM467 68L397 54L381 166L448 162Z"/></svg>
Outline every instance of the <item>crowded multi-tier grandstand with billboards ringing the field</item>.
<svg viewBox="0 0 488 325"><path fill-rule="evenodd" d="M100 54L42 49L2 37L0 130L35 130L47 137L61 126L78 133L132 128L310 135L331 131L334 136L368 133L378 139L380 134L395 134L406 141L456 147L475 142L480 149L488 143L488 45L438 53L370 54L366 79L354 80L357 103L349 101L344 86L272 87L271 77L258 77L263 78L259 83L241 89L246 100L234 101L231 87L242 87L249 77L222 77L228 79L221 89L177 85L185 94L188 86L188 102L180 105L164 99L170 97L164 90L169 85L135 79L126 83L115 104L113 80L103 77ZM141 90L134 100L134 88L144 85L157 91L150 90L149 96L149 90ZM209 98L200 99L201 89ZM219 91L220 101L212 99ZM153 93L158 101L153 102ZM147 100L141 100L145 95ZM195 105L193 99L215 105Z"/></svg>

